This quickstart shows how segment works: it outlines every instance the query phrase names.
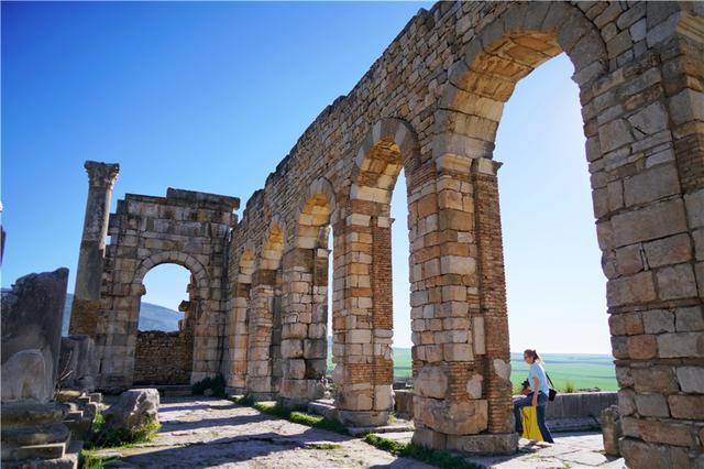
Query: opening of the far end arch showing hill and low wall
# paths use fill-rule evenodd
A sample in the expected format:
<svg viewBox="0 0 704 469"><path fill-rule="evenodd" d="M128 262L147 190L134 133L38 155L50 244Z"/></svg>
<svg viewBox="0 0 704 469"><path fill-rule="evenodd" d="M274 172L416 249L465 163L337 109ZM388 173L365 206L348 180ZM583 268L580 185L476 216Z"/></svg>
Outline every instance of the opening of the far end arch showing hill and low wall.
<svg viewBox="0 0 704 469"><path fill-rule="evenodd" d="M191 273L177 264L151 269L142 285L134 384L188 384L198 316Z"/></svg>

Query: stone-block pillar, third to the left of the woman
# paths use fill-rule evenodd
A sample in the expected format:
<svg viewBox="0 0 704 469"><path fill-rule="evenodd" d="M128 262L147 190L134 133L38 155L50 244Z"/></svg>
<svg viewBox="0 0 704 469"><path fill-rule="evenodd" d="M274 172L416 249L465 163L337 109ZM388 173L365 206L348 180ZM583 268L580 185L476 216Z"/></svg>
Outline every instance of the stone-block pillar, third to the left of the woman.
<svg viewBox="0 0 704 469"><path fill-rule="evenodd" d="M294 248L283 268L280 402L296 408L324 393L328 250Z"/></svg>

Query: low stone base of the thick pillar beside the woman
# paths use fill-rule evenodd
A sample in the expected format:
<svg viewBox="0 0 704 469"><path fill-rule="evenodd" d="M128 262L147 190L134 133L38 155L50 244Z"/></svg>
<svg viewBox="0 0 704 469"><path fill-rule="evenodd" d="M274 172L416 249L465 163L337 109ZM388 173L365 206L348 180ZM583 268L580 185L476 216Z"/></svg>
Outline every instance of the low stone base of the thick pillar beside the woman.
<svg viewBox="0 0 704 469"><path fill-rule="evenodd" d="M413 443L466 455L513 455L518 449L518 434L448 435L416 424Z"/></svg>

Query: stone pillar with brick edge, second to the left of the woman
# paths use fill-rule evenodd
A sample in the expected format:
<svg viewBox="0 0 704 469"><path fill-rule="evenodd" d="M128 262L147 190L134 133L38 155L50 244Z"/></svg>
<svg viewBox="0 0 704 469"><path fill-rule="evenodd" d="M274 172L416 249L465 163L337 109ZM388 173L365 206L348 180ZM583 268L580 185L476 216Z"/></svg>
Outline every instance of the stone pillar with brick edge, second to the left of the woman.
<svg viewBox="0 0 704 469"><path fill-rule="evenodd" d="M385 425L394 408L391 219L364 215L364 206L353 201L338 222L333 251L336 283L343 286L336 286L341 301L333 315L336 406L352 426Z"/></svg>

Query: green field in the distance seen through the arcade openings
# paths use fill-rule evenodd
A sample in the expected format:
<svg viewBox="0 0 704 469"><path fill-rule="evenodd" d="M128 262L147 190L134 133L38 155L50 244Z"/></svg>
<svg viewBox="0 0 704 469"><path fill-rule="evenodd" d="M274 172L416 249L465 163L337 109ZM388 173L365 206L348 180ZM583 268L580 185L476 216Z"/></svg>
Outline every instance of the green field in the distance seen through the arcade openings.
<svg viewBox="0 0 704 469"><path fill-rule="evenodd" d="M328 368L332 371L331 353L328 355ZM575 389L598 388L602 391L616 391L616 371L614 358L610 355L586 353L544 353L544 368L550 374L556 388L564 389L568 382ZM528 378L528 364L522 360L522 353L512 353L510 380L514 388ZM411 373L410 349L394 348L394 375L409 377Z"/></svg>

